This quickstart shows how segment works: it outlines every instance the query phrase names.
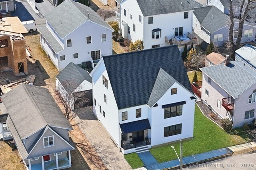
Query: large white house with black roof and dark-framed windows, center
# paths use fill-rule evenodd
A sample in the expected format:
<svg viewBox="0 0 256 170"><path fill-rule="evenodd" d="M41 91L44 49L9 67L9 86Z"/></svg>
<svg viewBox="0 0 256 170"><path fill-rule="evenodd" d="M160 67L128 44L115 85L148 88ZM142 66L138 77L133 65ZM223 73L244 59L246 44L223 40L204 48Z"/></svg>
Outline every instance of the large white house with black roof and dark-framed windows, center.
<svg viewBox="0 0 256 170"><path fill-rule="evenodd" d="M122 153L192 139L195 97L177 45L102 57L90 75L94 114Z"/></svg>

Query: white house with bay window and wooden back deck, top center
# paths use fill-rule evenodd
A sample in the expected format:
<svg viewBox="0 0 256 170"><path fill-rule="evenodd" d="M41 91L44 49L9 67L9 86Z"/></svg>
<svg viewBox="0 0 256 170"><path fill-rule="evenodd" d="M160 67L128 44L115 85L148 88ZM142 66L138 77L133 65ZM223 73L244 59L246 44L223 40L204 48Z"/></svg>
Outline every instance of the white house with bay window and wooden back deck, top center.
<svg viewBox="0 0 256 170"><path fill-rule="evenodd" d="M144 49L196 44L192 34L194 0L116 0L116 20L126 39L143 40ZM180 38L182 37L182 38Z"/></svg>

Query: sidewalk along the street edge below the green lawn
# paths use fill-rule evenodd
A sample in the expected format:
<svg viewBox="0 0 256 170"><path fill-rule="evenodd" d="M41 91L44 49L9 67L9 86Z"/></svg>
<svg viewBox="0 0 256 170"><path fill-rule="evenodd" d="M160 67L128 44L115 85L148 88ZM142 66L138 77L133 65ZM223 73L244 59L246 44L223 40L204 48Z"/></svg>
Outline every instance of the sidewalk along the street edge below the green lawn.
<svg viewBox="0 0 256 170"><path fill-rule="evenodd" d="M201 154L184 157L182 159L182 164L184 167L188 166L191 163L201 164L201 163L209 162L215 159L225 158L226 156L232 156L232 154L240 153L240 152L243 152L244 150L246 150L246 152L252 152L253 148L254 149L256 148L255 142L236 145L233 147L227 147L227 148L213 150L209 152L204 152ZM178 159L176 159L176 160L171 160L163 163L150 164L148 166L138 168L136 170L162 170L162 169L177 168L179 166L180 166L180 162Z"/></svg>

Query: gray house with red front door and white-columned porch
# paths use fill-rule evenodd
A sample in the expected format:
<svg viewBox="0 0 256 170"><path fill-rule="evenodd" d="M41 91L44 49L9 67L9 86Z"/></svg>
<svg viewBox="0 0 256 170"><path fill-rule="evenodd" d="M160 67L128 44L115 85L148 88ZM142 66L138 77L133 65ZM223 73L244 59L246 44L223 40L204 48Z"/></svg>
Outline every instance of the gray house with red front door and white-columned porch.
<svg viewBox="0 0 256 170"><path fill-rule="evenodd" d="M20 97L22 96L22 97ZM72 127L46 88L21 84L1 96L6 124L28 170L71 167Z"/></svg>

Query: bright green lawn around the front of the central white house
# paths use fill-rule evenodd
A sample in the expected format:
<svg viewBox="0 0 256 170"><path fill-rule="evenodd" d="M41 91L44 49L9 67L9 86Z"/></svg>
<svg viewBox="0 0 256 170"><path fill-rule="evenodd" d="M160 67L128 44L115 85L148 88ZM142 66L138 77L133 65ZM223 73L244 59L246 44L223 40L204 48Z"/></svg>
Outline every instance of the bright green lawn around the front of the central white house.
<svg viewBox="0 0 256 170"><path fill-rule="evenodd" d="M237 136L235 139L232 135L229 135L215 123L206 118L198 106L195 107L195 120L194 120L194 138L190 141L183 142L183 156L190 156L192 154L198 154L202 152L208 152L210 150L221 149L238 145L241 141L245 141L241 137ZM180 143L171 144L176 149L178 155L180 154ZM177 159L177 156L171 145L165 145L150 149L152 155L158 162L166 162L169 160ZM125 155L127 162L132 168L141 167L141 160L135 153Z"/></svg>

